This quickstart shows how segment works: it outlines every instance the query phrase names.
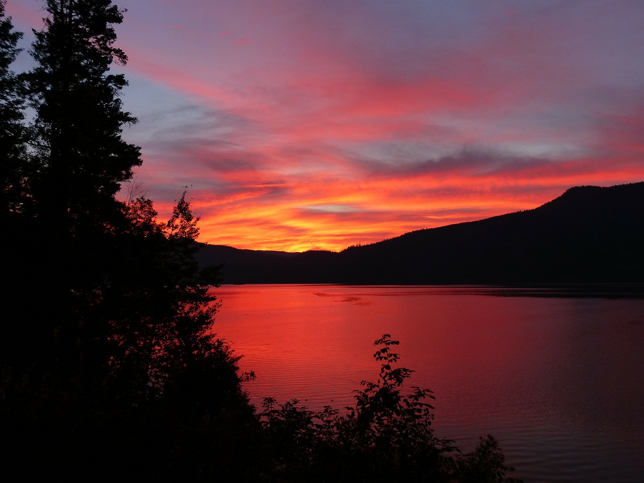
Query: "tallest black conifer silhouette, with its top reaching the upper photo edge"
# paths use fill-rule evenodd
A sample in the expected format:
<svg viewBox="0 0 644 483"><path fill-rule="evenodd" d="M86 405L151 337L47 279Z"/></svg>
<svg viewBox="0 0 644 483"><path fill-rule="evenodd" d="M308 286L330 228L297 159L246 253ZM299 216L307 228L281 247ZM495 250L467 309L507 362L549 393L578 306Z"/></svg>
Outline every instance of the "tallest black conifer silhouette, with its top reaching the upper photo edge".
<svg viewBox="0 0 644 483"><path fill-rule="evenodd" d="M126 220L115 194L141 163L140 148L122 138L123 126L136 119L118 97L127 81L110 71L127 61L114 46L122 11L109 0L47 0L45 10L30 51L37 66L26 74L35 111L23 162L30 205L12 231L20 240L15 285L25 293L30 285L46 290L41 304L26 307L24 319L38 330L30 340L19 337L19 350L27 361L50 354L48 368L80 371L79 358L95 368L88 358L104 355L96 344L106 328L88 314L97 312L118 261L114 234ZM27 295L18 297L28 304Z"/></svg>

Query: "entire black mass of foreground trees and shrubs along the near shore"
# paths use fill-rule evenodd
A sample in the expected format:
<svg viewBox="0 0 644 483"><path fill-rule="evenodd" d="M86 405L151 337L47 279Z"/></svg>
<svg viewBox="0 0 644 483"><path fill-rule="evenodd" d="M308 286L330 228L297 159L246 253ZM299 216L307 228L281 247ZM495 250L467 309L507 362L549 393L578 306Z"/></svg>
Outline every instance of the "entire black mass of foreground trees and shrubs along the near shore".
<svg viewBox="0 0 644 483"><path fill-rule="evenodd" d="M256 413L229 346L213 333L196 218L185 192L160 223L151 200L116 194L141 164L121 134L136 119L111 73L123 11L110 0L47 0L14 73L0 1L3 306L0 432L10 478L492 482L497 443L461 454L438 439L428 390L404 393L383 336L376 383L355 406L313 413L267 399ZM27 115L26 113L29 113ZM33 113L33 118L32 118ZM339 361L341 363L341 361Z"/></svg>

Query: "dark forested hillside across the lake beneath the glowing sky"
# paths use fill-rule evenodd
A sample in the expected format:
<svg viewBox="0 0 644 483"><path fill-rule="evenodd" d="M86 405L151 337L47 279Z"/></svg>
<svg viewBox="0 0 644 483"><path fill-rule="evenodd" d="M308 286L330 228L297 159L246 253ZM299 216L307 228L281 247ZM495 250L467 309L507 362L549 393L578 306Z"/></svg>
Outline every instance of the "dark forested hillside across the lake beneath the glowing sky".
<svg viewBox="0 0 644 483"><path fill-rule="evenodd" d="M644 283L644 182L582 186L538 208L342 252L205 245L224 283Z"/></svg>

